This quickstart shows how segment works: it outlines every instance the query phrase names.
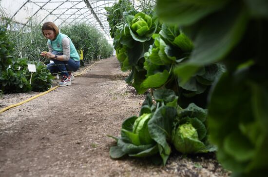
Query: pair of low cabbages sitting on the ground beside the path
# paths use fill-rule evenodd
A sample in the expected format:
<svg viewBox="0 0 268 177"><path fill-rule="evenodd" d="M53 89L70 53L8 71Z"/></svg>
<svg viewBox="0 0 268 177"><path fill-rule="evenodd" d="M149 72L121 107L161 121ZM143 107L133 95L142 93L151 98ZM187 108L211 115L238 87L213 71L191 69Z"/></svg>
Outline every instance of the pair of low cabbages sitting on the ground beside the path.
<svg viewBox="0 0 268 177"><path fill-rule="evenodd" d="M121 137L111 136L117 141L117 146L110 149L112 158L153 156L154 163L165 165L171 154L171 144L183 154L215 151L208 142L206 110L194 103L182 109L172 90L157 90L153 96L155 104L148 94L140 116L123 122Z"/></svg>

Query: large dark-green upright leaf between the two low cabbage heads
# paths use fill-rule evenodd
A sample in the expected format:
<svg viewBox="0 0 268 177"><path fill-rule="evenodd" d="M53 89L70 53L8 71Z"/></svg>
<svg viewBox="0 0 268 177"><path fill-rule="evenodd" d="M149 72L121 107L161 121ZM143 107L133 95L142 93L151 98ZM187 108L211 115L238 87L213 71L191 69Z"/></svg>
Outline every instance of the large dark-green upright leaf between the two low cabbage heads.
<svg viewBox="0 0 268 177"><path fill-rule="evenodd" d="M171 153L168 141L171 140L172 124L176 115L175 108L162 106L148 122L151 137L163 148L163 153L167 156Z"/></svg>

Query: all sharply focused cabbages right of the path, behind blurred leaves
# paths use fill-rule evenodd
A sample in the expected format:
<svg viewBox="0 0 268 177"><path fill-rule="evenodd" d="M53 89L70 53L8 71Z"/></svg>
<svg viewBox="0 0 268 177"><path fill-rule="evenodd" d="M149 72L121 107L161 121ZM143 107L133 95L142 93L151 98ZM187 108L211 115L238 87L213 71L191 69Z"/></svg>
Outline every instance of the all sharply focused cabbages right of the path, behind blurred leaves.
<svg viewBox="0 0 268 177"><path fill-rule="evenodd" d="M113 137L117 146L111 148L111 157L153 156L166 164L172 146L183 154L215 151L207 138L206 100L200 98L207 97L224 67L204 66L183 83L175 69L189 59L191 39L177 25L159 23L154 11L131 8L123 15L123 22L114 26L117 59L123 71L131 70L126 81L139 94L155 89L156 104L147 96L139 117L123 122L121 137Z"/></svg>

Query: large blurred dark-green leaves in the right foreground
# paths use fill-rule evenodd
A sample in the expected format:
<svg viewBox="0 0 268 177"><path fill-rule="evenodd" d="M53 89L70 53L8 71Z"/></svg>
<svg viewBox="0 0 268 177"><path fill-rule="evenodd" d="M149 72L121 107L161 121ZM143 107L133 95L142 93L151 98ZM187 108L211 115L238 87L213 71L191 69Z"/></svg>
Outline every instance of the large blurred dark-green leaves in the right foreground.
<svg viewBox="0 0 268 177"><path fill-rule="evenodd" d="M175 69L184 82L204 65L226 66L208 97L219 161L236 177L267 176L268 1L158 0L156 11L193 40L189 60Z"/></svg>

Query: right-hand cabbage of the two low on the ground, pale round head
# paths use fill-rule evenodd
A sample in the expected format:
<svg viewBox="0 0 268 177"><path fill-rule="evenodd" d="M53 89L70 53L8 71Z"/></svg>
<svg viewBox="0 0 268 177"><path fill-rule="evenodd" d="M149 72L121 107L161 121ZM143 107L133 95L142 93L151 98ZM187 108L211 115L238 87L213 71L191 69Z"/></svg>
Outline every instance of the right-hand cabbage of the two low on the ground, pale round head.
<svg viewBox="0 0 268 177"><path fill-rule="evenodd" d="M177 151L195 154L216 150L207 139L206 118L207 111L194 103L180 111L172 131L172 143Z"/></svg>

